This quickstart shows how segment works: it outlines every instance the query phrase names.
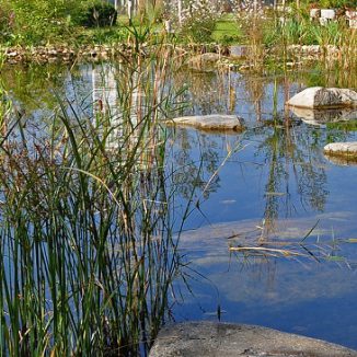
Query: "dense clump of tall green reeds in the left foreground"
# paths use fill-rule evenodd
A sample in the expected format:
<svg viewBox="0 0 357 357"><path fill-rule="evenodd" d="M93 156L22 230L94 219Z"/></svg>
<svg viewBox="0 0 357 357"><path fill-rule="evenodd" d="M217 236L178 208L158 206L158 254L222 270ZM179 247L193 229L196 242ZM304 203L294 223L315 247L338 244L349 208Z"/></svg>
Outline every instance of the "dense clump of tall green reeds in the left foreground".
<svg viewBox="0 0 357 357"><path fill-rule="evenodd" d="M2 355L145 354L168 316L180 256L160 118L174 108L174 54L127 56L115 112L58 96L38 133L3 93Z"/></svg>

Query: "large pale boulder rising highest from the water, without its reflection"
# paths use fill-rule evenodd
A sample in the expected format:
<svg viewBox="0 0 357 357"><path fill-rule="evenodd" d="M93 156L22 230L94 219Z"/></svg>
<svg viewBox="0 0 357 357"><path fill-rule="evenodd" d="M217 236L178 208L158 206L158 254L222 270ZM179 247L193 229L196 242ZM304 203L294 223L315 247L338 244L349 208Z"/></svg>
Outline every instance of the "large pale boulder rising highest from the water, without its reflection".
<svg viewBox="0 0 357 357"><path fill-rule="evenodd" d="M357 92L349 89L312 87L293 95L287 105L306 108L357 107Z"/></svg>

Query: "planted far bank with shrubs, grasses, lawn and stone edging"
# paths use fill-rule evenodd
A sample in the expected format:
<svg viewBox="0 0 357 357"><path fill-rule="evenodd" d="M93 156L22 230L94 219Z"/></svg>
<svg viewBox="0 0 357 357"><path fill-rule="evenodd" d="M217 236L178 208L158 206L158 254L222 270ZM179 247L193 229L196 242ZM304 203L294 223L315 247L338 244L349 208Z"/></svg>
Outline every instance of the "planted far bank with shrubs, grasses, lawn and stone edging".
<svg viewBox="0 0 357 357"><path fill-rule="evenodd" d="M255 7L246 1L230 1L230 7L224 1L193 2L197 5L184 4L178 11L176 1L151 7L148 1L128 18L104 2L79 5L54 0L49 5L36 0L25 5L16 0L10 5L0 0L0 59L9 64L106 60L131 51L146 55L152 45L168 44L187 56L231 55L223 66L242 69L261 67L270 56L292 67L306 59L347 57L344 67L356 65L354 2L323 1L319 9L308 0L287 1L283 8L264 1ZM244 57L249 60L242 62Z"/></svg>

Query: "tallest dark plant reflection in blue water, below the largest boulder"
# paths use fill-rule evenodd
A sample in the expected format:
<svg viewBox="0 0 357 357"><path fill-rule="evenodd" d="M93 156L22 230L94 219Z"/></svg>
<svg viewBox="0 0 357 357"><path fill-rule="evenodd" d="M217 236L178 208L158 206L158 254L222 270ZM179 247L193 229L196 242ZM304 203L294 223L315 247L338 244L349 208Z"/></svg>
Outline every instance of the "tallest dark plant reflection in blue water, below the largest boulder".
<svg viewBox="0 0 357 357"><path fill-rule="evenodd" d="M303 209L323 211L329 192L324 188L326 173L319 162L320 148L303 127L288 125L264 128L267 136L258 147L268 166L265 185L265 234L274 230L274 222L284 207L285 217L297 210L291 200L292 189L299 195Z"/></svg>

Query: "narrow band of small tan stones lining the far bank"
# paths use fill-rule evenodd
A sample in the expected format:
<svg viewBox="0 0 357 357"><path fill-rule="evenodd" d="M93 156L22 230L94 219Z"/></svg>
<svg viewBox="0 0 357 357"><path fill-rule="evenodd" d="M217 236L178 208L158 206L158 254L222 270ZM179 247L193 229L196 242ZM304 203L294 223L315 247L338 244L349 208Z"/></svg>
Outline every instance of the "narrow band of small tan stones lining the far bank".
<svg viewBox="0 0 357 357"><path fill-rule="evenodd" d="M168 45L171 46L170 43ZM267 48L264 45L264 57L280 57L281 48ZM146 55L146 49L149 45L141 45L142 55ZM219 44L198 44L186 45L177 47L189 56L197 54L216 53L220 54L222 58L231 60L229 64L234 64L237 60L243 60L250 57L250 45L219 45ZM233 55L233 48L243 48L241 56ZM112 45L84 45L81 47L72 47L70 45L50 45L37 47L2 47L0 48L0 56L3 58L3 64L19 65L35 62L38 65L64 62L73 64L82 61L111 60L120 56L120 54L130 54L134 46L125 43L116 43ZM357 55L357 48L344 48L332 45L289 45L286 47L287 54L299 60L320 60L320 59L339 59L344 55ZM237 51L237 50L235 50ZM291 58L290 58L291 59ZM290 60L288 61L290 62ZM242 64L243 65L243 64Z"/></svg>

